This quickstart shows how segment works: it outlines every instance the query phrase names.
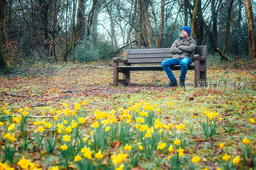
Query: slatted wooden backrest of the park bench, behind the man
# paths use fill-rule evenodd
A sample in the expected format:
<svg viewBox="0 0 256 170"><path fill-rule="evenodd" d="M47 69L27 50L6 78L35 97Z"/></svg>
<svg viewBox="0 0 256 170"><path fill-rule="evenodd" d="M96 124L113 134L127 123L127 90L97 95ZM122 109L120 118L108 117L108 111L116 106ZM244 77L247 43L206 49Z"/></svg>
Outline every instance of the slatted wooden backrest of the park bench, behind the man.
<svg viewBox="0 0 256 170"><path fill-rule="evenodd" d="M195 54L202 56L202 47L196 46ZM127 56L124 56L124 59L127 59L127 64L162 63L173 56L170 48L129 49L125 53L128 53Z"/></svg>

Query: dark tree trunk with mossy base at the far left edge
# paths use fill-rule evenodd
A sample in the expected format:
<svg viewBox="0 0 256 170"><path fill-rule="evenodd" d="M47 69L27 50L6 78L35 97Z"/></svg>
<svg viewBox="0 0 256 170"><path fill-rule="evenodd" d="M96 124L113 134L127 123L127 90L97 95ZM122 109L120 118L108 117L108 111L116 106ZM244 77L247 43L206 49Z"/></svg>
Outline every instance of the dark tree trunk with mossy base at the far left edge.
<svg viewBox="0 0 256 170"><path fill-rule="evenodd" d="M3 30L3 25L4 25L4 9L5 9L5 4L6 1L5 0L0 0L0 69L1 70L10 70L10 67L8 65L8 63L6 62L6 60L4 59L4 54L2 52L2 47L1 47L1 34L2 34L2 30Z"/></svg>

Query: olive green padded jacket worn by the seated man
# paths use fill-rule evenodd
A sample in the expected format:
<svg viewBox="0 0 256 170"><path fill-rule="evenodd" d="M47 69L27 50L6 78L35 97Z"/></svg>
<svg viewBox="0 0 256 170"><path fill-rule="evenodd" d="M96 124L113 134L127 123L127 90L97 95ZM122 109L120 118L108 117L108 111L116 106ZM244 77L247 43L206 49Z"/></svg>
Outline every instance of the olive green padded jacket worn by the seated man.
<svg viewBox="0 0 256 170"><path fill-rule="evenodd" d="M196 49L196 40L193 37L189 37L187 40L180 39L175 40L171 47L171 53L174 54L172 58L188 58L191 62L193 61ZM186 52L188 54L183 53Z"/></svg>

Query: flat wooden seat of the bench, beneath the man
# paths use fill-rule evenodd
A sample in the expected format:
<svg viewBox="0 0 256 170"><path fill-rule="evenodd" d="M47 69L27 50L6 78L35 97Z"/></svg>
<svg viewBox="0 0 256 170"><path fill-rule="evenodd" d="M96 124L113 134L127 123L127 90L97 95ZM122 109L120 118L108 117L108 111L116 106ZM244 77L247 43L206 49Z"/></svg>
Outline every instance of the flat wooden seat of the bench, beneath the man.
<svg viewBox="0 0 256 170"><path fill-rule="evenodd" d="M181 66L180 65L174 65L170 67L172 70L180 70ZM139 66L118 66L117 67L118 71L161 71L164 70L162 65L139 65ZM195 70L195 65L191 64L188 65L188 70Z"/></svg>

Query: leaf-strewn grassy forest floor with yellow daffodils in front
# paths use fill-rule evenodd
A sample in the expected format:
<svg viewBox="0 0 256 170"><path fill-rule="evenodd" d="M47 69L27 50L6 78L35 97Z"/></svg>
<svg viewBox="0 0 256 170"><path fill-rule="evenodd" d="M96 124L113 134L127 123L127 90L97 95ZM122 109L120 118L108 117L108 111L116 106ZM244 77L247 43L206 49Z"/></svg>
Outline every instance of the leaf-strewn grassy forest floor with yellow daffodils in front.
<svg viewBox="0 0 256 170"><path fill-rule="evenodd" d="M113 87L112 67L23 69L1 76L0 167L255 168L255 70L209 60L209 87L166 88L164 71L132 71Z"/></svg>

